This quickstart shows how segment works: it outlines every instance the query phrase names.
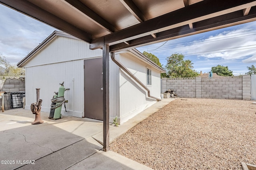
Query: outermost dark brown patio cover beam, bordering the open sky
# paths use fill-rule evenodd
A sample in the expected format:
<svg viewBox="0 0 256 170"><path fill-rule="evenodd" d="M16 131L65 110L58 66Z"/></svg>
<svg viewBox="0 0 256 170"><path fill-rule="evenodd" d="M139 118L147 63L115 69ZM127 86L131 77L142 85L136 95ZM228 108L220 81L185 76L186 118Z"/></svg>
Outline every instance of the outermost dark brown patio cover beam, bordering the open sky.
<svg viewBox="0 0 256 170"><path fill-rule="evenodd" d="M247 16L243 16L242 11L236 11L230 14L225 14L223 16L218 16L214 18L210 18L208 20L199 21L193 23L193 29L189 27L189 25L184 25L181 27L176 27L173 29L169 29L166 31L162 31L157 33L157 37L154 39L151 35L140 37L138 39L133 39L130 41L130 44L119 43L116 45L110 46L110 51L122 51L131 48L141 47L142 45L150 45L153 43L158 43L162 41L167 41L170 39L176 39L180 37L185 37L188 35L194 35L197 33L202 33L206 31L211 31L213 29L220 29L223 27L232 26L234 23L241 24L251 21L256 21L256 6L250 10L250 14Z"/></svg>

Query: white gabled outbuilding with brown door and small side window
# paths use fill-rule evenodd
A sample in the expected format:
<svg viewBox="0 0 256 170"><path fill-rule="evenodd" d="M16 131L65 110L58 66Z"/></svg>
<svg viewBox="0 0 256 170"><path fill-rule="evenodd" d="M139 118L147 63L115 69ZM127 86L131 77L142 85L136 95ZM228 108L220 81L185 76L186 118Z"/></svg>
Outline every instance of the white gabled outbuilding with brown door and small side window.
<svg viewBox="0 0 256 170"><path fill-rule="evenodd" d="M165 72L136 49L111 56L109 73L110 122L124 123L160 100L160 74ZM42 111L64 82L68 100L62 115L103 120L102 50L67 33L54 31L18 64L26 70L26 105L36 102L40 88Z"/></svg>

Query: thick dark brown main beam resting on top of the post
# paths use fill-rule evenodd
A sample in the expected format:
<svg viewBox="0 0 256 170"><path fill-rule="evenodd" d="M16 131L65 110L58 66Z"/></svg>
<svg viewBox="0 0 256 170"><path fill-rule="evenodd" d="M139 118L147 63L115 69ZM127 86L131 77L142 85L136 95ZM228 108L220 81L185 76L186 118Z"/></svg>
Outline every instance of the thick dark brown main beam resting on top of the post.
<svg viewBox="0 0 256 170"><path fill-rule="evenodd" d="M185 8L170 12L168 14L153 18L151 20L144 21L140 24L133 25L126 29L116 31L104 36L104 39L106 44L114 45L124 41L130 41L132 39L137 39L154 33L166 31L168 29L188 25L189 23L195 23L238 10L243 10L251 6L256 6L256 1L204 0L196 4L186 6ZM94 39L90 44L90 49L100 48L98 44L102 41L103 37Z"/></svg>

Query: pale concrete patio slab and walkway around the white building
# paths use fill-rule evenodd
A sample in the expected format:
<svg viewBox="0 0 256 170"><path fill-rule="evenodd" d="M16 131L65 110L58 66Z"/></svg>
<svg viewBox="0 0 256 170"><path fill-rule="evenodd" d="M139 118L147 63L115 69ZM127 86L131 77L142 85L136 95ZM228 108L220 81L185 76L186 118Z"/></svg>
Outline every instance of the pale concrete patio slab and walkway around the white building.
<svg viewBox="0 0 256 170"><path fill-rule="evenodd" d="M157 102L119 127L110 125L110 142L172 100ZM71 116L52 120L41 112L44 123L32 125L34 116L24 109L0 112L0 160L6 160L1 170L150 169L112 151L102 152L102 121Z"/></svg>

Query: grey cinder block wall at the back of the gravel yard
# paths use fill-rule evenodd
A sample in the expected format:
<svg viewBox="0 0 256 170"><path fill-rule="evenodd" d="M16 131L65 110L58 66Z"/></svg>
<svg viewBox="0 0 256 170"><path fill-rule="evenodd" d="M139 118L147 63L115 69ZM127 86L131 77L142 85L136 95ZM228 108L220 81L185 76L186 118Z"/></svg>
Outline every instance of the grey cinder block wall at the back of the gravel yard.
<svg viewBox="0 0 256 170"><path fill-rule="evenodd" d="M162 78L162 92L173 89L181 98L251 99L250 76Z"/></svg>

